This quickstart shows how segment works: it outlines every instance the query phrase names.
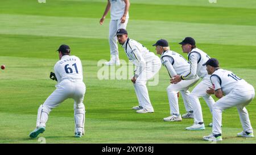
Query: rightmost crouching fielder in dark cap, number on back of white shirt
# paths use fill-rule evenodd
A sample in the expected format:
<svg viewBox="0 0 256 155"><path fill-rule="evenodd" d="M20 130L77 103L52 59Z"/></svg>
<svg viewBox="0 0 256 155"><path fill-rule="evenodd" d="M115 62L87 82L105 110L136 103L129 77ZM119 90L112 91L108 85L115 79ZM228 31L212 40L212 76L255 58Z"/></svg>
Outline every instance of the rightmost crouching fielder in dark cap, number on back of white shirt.
<svg viewBox="0 0 256 155"><path fill-rule="evenodd" d="M207 90L208 94L215 94L219 100L212 106L213 128L209 136L204 136L204 140L221 141L221 122L222 111L237 107L243 131L237 133L238 137L254 137L253 128L251 127L249 114L245 108L253 100L255 91L254 87L244 79L236 76L229 70L221 69L218 60L210 58L204 66L207 66L208 74L212 86Z"/></svg>

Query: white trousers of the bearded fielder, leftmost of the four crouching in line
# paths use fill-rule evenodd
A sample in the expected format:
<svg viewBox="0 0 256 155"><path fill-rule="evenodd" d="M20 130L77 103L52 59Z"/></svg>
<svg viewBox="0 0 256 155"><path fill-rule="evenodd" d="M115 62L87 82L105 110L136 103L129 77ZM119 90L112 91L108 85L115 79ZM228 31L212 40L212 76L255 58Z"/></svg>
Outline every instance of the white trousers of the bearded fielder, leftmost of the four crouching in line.
<svg viewBox="0 0 256 155"><path fill-rule="evenodd" d="M156 73L160 70L162 64L161 60L158 56L155 56L155 59L151 62L146 63L146 68L142 70L142 73L136 79L134 83L135 93L138 98L139 106L146 108L147 110L153 110L152 104L150 102L150 98L148 96L148 90L146 87L146 83L148 79L151 79L155 76Z"/></svg>

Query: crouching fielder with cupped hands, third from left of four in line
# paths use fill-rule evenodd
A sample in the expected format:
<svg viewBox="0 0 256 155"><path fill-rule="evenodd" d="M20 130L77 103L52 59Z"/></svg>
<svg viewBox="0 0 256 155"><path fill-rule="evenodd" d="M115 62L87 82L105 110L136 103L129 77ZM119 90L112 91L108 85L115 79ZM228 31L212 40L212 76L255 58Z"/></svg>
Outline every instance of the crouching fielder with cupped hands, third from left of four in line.
<svg viewBox="0 0 256 155"><path fill-rule="evenodd" d="M204 130L204 120L199 98L203 97L207 103L210 112L212 112L212 104L214 104L213 98L207 94L208 87L212 86L210 82L210 75L208 75L206 66L203 66L205 62L209 60L207 53L196 48L196 41L192 37L185 37L181 41L181 48L184 53L188 53L189 71L180 75L175 75L171 79L171 83L178 83L181 80L189 80L199 76L202 81L192 90L189 94L189 100L191 102L194 114L194 124L191 127L187 127L187 130Z"/></svg>

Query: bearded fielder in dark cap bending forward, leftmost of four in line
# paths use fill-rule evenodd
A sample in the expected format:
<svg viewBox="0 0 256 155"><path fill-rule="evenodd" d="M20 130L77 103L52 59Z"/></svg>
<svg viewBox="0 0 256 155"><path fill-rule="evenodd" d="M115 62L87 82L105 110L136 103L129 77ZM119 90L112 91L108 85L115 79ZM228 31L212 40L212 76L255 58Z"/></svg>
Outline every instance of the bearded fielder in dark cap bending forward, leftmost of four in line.
<svg viewBox="0 0 256 155"><path fill-rule="evenodd" d="M146 82L158 73L161 68L161 61L158 56L148 51L146 47L135 40L129 39L127 31L123 28L117 31L117 39L122 48L125 49L126 56L135 65L134 76L131 82L134 83L135 93L139 106L133 107L137 113L154 112L154 108L148 97Z"/></svg>

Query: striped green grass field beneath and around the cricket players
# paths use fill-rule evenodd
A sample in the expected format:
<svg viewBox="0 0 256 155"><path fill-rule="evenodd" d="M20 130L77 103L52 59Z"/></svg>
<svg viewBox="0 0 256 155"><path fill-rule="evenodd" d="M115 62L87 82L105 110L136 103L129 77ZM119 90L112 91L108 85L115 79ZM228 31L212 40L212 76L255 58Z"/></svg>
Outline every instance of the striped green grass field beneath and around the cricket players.
<svg viewBox="0 0 256 155"><path fill-rule="evenodd" d="M129 37L155 52L152 44L167 39L173 51L185 36L193 36L197 47L218 58L224 69L256 87L256 3L250 0L130 0ZM138 104L130 79L99 80L98 60L109 60L108 17L99 21L106 0L4 0L0 2L0 143L39 143L28 134L35 128L40 104L55 90L49 72L58 60L56 49L68 44L79 56L86 84L86 133L73 137L73 100L65 100L49 115L47 129L40 135L46 143L206 143L205 131L185 131L193 119L163 122L170 115L166 87L167 70L159 72L159 84L148 86L153 114L136 114ZM119 46L119 57L128 62ZM117 67L118 68L118 67ZM192 90L189 89L189 90ZM216 99L214 97L214 99ZM200 99L205 125L212 122L209 108ZM179 98L180 112L185 113ZM256 100L247 106L256 129ZM220 143L256 143L238 138L242 131L236 108L223 114ZM255 132L256 133L256 132ZM40 137L39 136L39 137Z"/></svg>

